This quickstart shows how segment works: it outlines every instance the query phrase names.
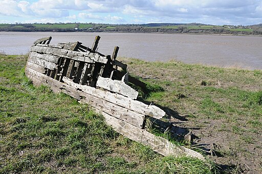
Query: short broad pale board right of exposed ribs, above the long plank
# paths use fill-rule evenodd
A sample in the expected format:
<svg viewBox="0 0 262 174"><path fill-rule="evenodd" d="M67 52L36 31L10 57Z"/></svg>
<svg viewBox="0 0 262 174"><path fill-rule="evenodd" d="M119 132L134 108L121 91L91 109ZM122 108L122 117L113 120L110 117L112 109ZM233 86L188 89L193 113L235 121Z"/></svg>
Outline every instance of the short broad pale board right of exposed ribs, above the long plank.
<svg viewBox="0 0 262 174"><path fill-rule="evenodd" d="M138 96L138 92L125 84L123 81L112 80L110 78L99 76L96 85L100 88L121 94L132 99L136 99Z"/></svg>

